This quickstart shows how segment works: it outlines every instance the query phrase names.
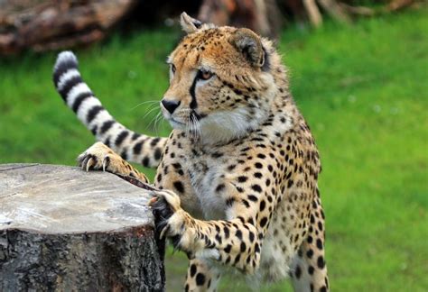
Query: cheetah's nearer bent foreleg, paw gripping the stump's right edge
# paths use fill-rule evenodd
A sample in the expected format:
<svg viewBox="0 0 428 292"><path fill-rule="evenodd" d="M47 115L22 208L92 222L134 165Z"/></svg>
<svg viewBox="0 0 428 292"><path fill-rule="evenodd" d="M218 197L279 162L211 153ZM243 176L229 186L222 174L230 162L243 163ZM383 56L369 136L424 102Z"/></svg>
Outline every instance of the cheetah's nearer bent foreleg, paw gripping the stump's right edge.
<svg viewBox="0 0 428 292"><path fill-rule="evenodd" d="M157 192L149 204L155 217L160 218L156 228L161 238L169 237L173 246L186 252L189 259L218 260L247 274L258 268L265 228L255 223L256 215L248 220L198 220L181 209L180 197L169 190ZM260 220L266 225L269 219Z"/></svg>

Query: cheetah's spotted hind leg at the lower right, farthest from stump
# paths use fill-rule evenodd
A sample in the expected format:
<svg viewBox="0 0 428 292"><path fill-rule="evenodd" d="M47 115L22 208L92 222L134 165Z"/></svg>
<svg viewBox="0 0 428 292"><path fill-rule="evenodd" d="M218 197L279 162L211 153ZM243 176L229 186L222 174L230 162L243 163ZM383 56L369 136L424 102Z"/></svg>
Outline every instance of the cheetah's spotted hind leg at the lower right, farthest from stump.
<svg viewBox="0 0 428 292"><path fill-rule="evenodd" d="M311 228L312 227L312 228ZM321 230L316 230L321 227ZM324 255L324 222L313 222L308 237L293 258L290 276L296 292L327 292L329 278Z"/></svg>

